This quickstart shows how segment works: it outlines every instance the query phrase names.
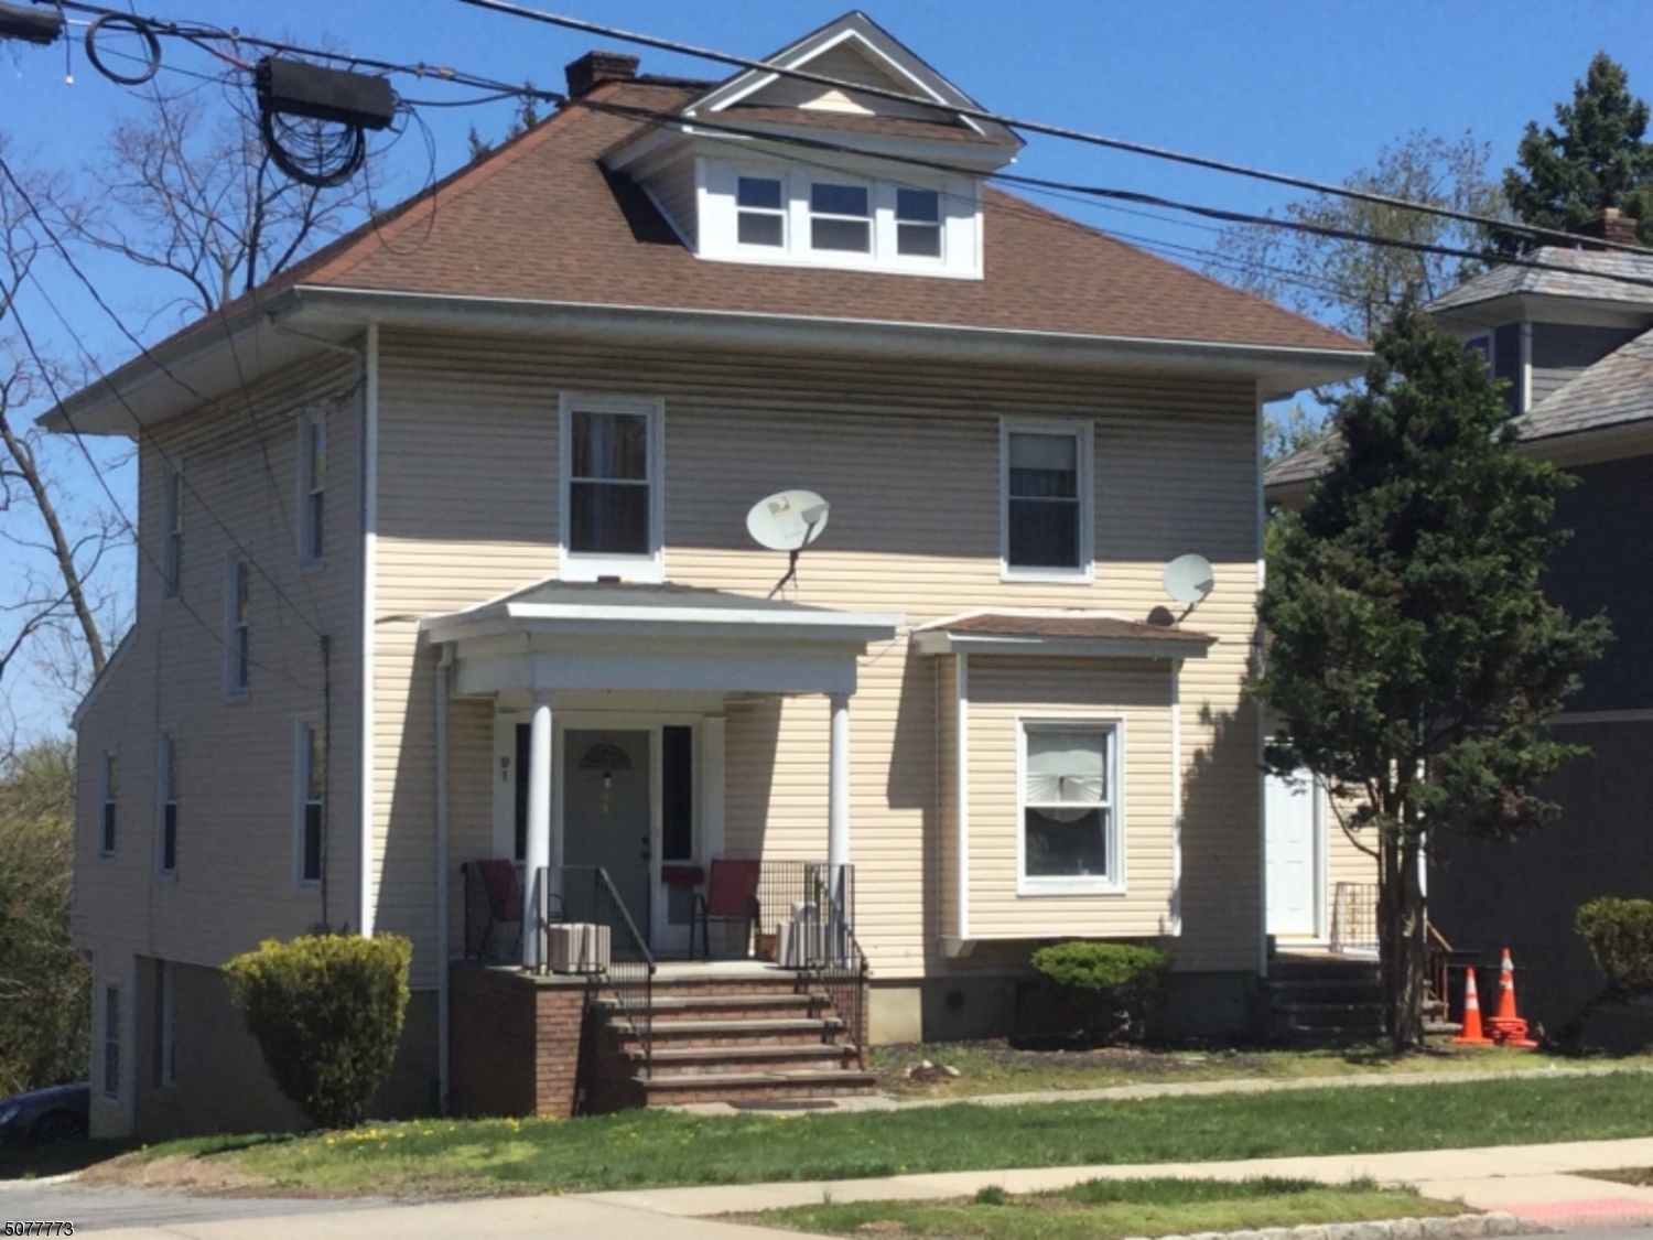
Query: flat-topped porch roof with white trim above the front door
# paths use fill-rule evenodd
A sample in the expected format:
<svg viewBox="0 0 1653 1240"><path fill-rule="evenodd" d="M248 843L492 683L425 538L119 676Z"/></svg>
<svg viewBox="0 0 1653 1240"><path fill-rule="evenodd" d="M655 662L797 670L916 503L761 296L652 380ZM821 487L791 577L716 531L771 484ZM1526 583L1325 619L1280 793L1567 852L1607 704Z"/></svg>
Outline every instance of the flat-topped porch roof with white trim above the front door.
<svg viewBox="0 0 1653 1240"><path fill-rule="evenodd" d="M503 689L853 693L856 660L904 617L694 585L544 580L420 620L463 694Z"/></svg>

